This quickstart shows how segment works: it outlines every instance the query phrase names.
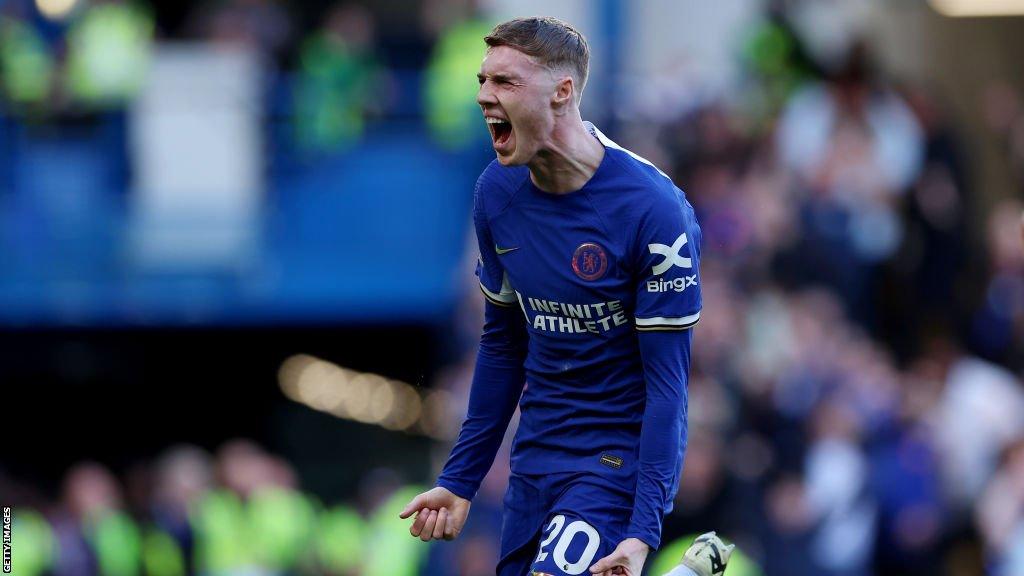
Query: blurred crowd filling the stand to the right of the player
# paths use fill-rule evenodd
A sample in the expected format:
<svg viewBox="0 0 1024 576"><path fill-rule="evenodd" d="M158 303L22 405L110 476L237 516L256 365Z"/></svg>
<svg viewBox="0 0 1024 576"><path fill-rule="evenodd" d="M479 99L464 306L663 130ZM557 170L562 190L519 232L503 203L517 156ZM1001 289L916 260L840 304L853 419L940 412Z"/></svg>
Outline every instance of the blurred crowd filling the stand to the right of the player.
<svg viewBox="0 0 1024 576"><path fill-rule="evenodd" d="M1021 203L978 209L941 94L862 42L815 63L781 19L750 41L779 37L746 61L767 101L698 105L648 151L707 239L666 530L767 574L1024 573Z"/></svg>

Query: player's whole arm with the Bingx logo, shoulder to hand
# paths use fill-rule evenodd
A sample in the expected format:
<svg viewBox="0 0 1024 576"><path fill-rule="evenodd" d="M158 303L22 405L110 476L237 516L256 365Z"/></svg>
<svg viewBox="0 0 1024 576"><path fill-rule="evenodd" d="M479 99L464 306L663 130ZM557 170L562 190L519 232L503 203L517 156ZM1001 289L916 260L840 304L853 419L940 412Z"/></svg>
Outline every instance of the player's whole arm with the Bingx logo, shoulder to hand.
<svg viewBox="0 0 1024 576"><path fill-rule="evenodd" d="M591 568L639 574L662 543L662 521L676 494L686 448L691 328L700 319L700 227L682 192L665 189L647 207L633 247L636 329L646 403L633 515L626 539Z"/></svg>

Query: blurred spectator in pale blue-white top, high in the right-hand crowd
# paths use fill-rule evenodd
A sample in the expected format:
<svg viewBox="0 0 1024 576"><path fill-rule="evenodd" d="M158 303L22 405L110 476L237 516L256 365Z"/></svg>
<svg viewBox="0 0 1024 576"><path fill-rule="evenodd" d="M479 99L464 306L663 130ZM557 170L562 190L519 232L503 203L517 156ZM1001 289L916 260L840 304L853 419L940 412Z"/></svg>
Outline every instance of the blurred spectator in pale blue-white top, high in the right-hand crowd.
<svg viewBox="0 0 1024 576"><path fill-rule="evenodd" d="M835 79L805 87L779 119L780 159L794 170L803 203L804 242L795 257L804 280L844 296L854 318L872 326L874 265L903 235L898 207L924 157L921 126L902 98L868 71L854 48Z"/></svg>

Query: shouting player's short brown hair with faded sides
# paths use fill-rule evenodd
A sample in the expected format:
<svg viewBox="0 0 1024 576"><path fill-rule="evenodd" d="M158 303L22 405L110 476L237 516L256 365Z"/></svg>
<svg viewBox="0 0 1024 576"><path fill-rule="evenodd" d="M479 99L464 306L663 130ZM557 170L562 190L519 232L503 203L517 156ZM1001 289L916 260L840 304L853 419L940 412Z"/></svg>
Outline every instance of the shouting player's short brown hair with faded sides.
<svg viewBox="0 0 1024 576"><path fill-rule="evenodd" d="M483 41L492 48L514 48L550 69L568 69L580 102L590 74L590 45L579 30L551 16L515 18L496 26Z"/></svg>

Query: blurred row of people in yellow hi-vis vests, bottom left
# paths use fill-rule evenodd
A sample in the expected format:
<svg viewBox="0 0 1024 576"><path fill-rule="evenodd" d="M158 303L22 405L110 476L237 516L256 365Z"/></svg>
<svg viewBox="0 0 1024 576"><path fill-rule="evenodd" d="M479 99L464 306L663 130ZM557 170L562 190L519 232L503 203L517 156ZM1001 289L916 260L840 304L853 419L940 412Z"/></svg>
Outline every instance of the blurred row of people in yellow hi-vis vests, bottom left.
<svg viewBox="0 0 1024 576"><path fill-rule="evenodd" d="M172 447L122 478L80 462L56 501L0 477L18 576L414 576L426 546L396 520L418 491L381 469L350 501L325 505L287 461L245 440L215 455Z"/></svg>

